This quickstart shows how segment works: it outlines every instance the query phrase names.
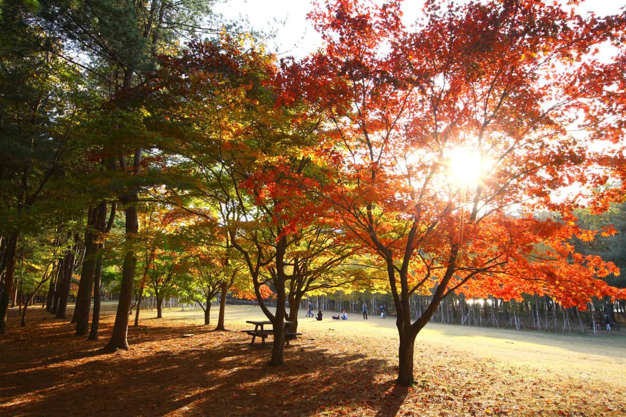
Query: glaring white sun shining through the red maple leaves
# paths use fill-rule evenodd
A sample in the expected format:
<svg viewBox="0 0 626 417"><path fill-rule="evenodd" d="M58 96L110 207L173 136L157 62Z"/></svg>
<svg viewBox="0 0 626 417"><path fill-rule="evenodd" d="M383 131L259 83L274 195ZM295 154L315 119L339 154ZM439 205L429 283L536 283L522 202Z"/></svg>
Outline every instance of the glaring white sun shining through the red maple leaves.
<svg viewBox="0 0 626 417"><path fill-rule="evenodd" d="M476 187L488 170L486 159L480 152L468 148L453 148L445 158L446 175L459 187Z"/></svg>

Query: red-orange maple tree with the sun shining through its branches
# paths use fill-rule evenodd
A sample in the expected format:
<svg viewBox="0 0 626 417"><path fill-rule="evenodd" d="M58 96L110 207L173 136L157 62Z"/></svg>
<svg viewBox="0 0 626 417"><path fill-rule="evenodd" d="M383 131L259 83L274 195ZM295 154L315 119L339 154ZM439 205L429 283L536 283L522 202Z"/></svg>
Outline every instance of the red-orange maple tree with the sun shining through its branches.
<svg viewBox="0 0 626 417"><path fill-rule="evenodd" d="M593 136L568 134L602 100L582 63L621 36L623 16L583 18L538 0L427 1L406 27L400 2L338 0L310 14L326 46L285 63L282 103L326 116L327 215L387 270L399 332L398 382L413 383L414 340L449 294L549 294L585 308L618 296L615 265L577 254L582 193L605 175ZM550 217L533 212L551 210ZM608 231L612 233L612 231ZM433 297L411 319L409 297Z"/></svg>

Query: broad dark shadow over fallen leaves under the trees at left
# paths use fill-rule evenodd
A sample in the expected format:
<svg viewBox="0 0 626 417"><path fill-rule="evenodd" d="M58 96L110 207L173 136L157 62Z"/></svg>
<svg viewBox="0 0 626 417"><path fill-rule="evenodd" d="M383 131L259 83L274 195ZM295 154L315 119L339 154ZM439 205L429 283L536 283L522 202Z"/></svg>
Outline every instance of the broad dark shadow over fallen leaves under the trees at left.
<svg viewBox="0 0 626 417"><path fill-rule="evenodd" d="M269 349L250 346L246 335L230 332L218 342L215 337L220 334L198 334L198 326L193 329L196 336L182 339L173 351L150 354L83 351L44 359L45 346L40 346L36 368L0 374L0 413L310 415L324 407L350 409L387 399L379 411L383 416L397 412L406 396L406 390L397 387L390 394L391 382L377 378L389 371L382 359L361 353L329 354L296 341L285 349L284 365L269 366ZM151 328L148 336L134 340L133 349L188 330ZM51 339L56 338L66 339Z"/></svg>

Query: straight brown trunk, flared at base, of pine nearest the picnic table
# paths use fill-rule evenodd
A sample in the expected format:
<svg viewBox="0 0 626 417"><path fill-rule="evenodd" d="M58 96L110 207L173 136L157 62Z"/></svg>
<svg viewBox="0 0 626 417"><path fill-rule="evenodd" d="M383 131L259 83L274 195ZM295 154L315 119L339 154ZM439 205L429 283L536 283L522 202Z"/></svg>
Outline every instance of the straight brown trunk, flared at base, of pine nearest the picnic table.
<svg viewBox="0 0 626 417"><path fill-rule="evenodd" d="M133 192L130 198L126 199L124 213L126 215L126 239L134 239L139 231L139 221L137 218L137 209L135 206L137 192ZM115 313L115 324L113 324L113 334L108 344L105 346L105 352L113 352L115 349L128 349L128 310L133 301L133 284L135 284L135 267L137 258L135 251L130 245L124 257L122 266L120 301Z"/></svg>

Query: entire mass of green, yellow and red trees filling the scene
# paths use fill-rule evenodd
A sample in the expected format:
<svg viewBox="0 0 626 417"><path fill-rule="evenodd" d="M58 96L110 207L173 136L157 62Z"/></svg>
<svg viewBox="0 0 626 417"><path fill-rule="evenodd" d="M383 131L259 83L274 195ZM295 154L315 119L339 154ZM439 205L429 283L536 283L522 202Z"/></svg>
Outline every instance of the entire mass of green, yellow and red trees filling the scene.
<svg viewBox="0 0 626 417"><path fill-rule="evenodd" d="M146 294L208 324L233 292L281 364L307 294L388 291L402 384L452 294L623 299L626 14L577 3L316 3L302 59L207 31L211 2L0 3L0 332L18 254L61 316L80 272L77 335L114 277L110 351L133 300L135 324Z"/></svg>

